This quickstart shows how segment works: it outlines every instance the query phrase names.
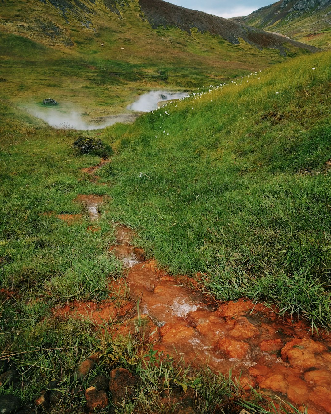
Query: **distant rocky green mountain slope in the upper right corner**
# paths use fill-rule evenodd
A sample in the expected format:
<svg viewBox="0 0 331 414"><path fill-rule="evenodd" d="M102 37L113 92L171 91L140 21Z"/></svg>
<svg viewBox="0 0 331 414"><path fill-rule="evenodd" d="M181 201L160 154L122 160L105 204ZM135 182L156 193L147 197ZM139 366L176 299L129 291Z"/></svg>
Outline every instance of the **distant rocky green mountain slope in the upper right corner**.
<svg viewBox="0 0 331 414"><path fill-rule="evenodd" d="M281 0L231 20L314 46L331 47L331 0Z"/></svg>

